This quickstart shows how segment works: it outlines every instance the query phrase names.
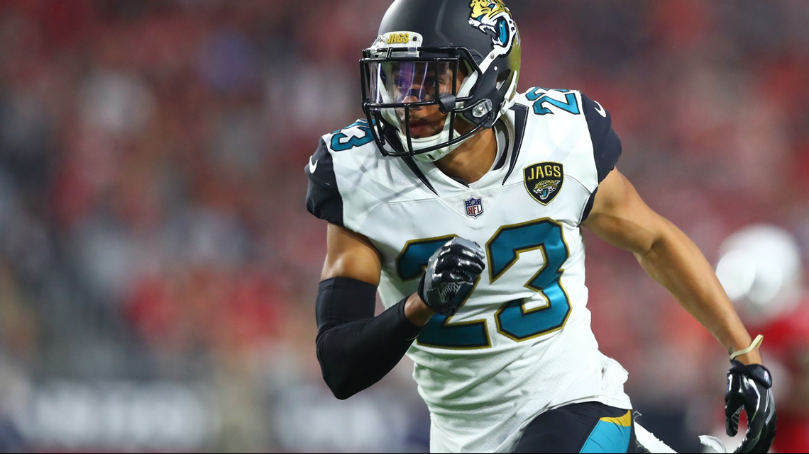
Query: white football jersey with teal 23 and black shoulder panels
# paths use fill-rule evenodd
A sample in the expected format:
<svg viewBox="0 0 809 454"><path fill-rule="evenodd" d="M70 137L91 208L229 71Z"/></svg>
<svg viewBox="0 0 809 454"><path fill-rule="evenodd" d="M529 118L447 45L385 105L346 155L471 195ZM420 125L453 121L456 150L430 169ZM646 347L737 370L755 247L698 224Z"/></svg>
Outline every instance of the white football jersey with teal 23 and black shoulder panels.
<svg viewBox="0 0 809 454"><path fill-rule="evenodd" d="M310 212L379 250L385 307L452 237L485 250L458 313L435 315L408 351L433 452L508 452L536 414L574 402L631 408L626 371L592 334L579 227L621 153L610 116L578 91L535 88L501 121L505 151L469 185L383 157L364 120L324 136L307 166Z"/></svg>

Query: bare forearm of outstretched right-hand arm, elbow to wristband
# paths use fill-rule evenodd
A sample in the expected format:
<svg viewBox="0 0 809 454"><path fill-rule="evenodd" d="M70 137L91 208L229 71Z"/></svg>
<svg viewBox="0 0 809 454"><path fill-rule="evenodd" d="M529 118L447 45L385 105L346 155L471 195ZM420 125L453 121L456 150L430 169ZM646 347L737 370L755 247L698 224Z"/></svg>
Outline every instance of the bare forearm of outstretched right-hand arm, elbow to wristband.
<svg viewBox="0 0 809 454"><path fill-rule="evenodd" d="M722 284L705 256L680 229L663 220L662 233L646 251L635 256L646 272L667 288L680 305L707 328L726 350L739 351L751 343ZM738 358L760 364L758 351Z"/></svg>

